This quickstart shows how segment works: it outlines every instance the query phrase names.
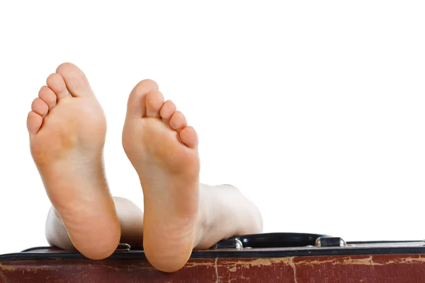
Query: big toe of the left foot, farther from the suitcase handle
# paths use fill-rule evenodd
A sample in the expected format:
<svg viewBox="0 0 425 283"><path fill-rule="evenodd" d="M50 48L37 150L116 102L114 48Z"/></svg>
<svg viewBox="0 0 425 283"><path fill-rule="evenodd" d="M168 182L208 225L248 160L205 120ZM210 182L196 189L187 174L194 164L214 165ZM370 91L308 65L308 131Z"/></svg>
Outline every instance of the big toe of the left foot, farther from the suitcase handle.
<svg viewBox="0 0 425 283"><path fill-rule="evenodd" d="M71 63L64 63L57 67L56 73L64 78L65 84L72 96L94 96L89 80L79 67Z"/></svg>

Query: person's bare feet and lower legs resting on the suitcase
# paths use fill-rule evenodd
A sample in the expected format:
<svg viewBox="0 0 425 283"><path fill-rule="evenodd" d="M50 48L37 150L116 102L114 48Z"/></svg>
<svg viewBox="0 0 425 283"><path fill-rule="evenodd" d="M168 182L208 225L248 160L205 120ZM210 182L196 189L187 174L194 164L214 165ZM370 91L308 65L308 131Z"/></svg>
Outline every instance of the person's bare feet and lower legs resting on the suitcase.
<svg viewBox="0 0 425 283"><path fill-rule="evenodd" d="M31 153L52 202L50 244L96 260L111 255L119 242L143 245L154 267L174 272L193 248L262 231L259 210L236 187L199 183L196 131L171 100L164 101L154 81L141 81L130 93L123 129L144 213L111 197L103 170L106 120L78 67L60 65L31 109Z"/></svg>

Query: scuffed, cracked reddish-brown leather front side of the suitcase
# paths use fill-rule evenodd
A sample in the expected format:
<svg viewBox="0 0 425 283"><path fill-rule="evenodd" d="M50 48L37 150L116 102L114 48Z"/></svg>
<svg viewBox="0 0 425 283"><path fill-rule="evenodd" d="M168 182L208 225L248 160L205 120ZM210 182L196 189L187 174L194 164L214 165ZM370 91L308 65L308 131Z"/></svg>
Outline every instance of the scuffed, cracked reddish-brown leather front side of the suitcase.
<svg viewBox="0 0 425 283"><path fill-rule="evenodd" d="M10 260L0 282L425 282L425 255L338 255L192 259L179 272L145 259Z"/></svg>

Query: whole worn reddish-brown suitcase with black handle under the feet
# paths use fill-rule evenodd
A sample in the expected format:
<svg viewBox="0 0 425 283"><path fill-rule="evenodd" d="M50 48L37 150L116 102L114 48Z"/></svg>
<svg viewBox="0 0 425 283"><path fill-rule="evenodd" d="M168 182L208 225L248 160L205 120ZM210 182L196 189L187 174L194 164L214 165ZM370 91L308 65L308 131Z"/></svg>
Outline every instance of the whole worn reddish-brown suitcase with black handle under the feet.
<svg viewBox="0 0 425 283"><path fill-rule="evenodd" d="M106 260L57 248L0 255L0 282L425 282L424 241L344 242L303 233L239 236L164 273L121 244Z"/></svg>

